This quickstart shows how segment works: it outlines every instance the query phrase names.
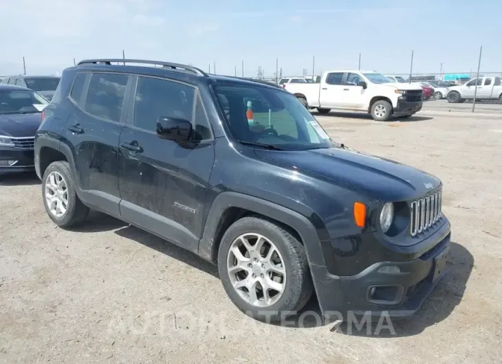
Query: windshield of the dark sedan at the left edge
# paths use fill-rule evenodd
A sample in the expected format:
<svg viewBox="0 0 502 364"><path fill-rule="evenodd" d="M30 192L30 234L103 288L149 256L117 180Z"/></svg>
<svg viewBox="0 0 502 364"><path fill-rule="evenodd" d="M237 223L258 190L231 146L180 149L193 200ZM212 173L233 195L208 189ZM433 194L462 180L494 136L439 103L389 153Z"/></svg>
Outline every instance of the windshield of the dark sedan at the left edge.
<svg viewBox="0 0 502 364"><path fill-rule="evenodd" d="M33 91L0 90L1 114L40 113L49 102Z"/></svg>

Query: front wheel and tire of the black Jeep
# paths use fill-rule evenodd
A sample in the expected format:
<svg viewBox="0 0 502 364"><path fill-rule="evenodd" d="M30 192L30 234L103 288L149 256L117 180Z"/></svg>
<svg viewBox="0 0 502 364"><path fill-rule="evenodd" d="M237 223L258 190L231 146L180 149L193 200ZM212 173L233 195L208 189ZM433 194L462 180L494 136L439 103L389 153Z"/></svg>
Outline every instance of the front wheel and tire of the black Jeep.
<svg viewBox="0 0 502 364"><path fill-rule="evenodd" d="M270 267L272 265L268 263L265 260L266 257L263 258L262 255L265 253L266 249L258 254L257 251L251 251L243 247L244 240L239 240L241 237L244 238L245 241L248 241L249 247L256 247L258 242L262 241L258 238L258 240L254 240L255 242L252 244L253 238L251 237L253 236L256 238L259 236L264 238L263 241L265 242L261 244L263 249L272 247L272 244L274 245L279 254L272 253L272 256L280 258L285 275L281 276L280 274L274 275L270 273ZM230 274L229 266L231 268L235 262L239 262L239 260L235 258L237 255L233 253L236 247L235 244L241 244L239 250L241 251L240 256L243 260L240 261L243 262L242 266L244 266L244 269L238 268L237 273ZM266 251L267 254L270 253L270 251L271 249ZM252 258L253 255L259 257L259 260L255 262L256 258ZM277 260L275 259L275 261ZM261 268L263 267L261 264L262 262L267 264L265 268ZM249 265L251 265L251 267ZM274 265L274 267L277 268L278 265ZM283 227L263 218L252 216L241 218L228 228L221 239L218 251L218 271L223 288L225 288L228 297L230 297L235 306L246 315L260 321L279 321L285 315L301 310L301 308L307 304L314 291L303 245ZM238 275L240 275L240 277L238 277ZM266 278L267 276L269 279ZM270 277L272 277L274 281L270 280ZM238 282L248 283L245 287L234 288L234 284L239 284ZM265 295L262 294L260 298L259 291L253 289L253 291L257 293L255 297L259 297L257 301L255 301L257 303L253 304L250 302L251 295L245 290L250 292L248 286L252 287L253 284L257 285L257 282L260 283L262 293L263 286L261 282L263 282L263 284L272 282L272 284L276 284L276 287L282 286L282 293L278 296L277 294L279 294L279 291L275 291L277 294L274 295L273 292L270 292L270 289L267 289L266 292L268 292L268 297L270 299L267 304ZM277 282L281 283L278 284ZM274 295L274 297L272 297L272 295Z"/></svg>

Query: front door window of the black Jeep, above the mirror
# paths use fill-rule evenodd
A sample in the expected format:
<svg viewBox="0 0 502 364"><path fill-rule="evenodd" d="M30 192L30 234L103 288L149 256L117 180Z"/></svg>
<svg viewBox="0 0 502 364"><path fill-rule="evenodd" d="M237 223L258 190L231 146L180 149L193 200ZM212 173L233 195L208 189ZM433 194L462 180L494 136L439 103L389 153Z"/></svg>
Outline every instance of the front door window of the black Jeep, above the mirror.
<svg viewBox="0 0 502 364"><path fill-rule="evenodd" d="M155 132L157 118L193 120L195 89L179 82L139 77L134 100L134 126Z"/></svg>

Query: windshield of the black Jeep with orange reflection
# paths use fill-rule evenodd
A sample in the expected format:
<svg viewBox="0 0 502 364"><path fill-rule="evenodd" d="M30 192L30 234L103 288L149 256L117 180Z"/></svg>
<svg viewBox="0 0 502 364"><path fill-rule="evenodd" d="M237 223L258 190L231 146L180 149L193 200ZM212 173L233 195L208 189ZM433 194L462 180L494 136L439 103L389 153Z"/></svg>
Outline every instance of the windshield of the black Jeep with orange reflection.
<svg viewBox="0 0 502 364"><path fill-rule="evenodd" d="M311 113L287 92L252 84L215 84L232 137L244 144L283 150L331 148Z"/></svg>

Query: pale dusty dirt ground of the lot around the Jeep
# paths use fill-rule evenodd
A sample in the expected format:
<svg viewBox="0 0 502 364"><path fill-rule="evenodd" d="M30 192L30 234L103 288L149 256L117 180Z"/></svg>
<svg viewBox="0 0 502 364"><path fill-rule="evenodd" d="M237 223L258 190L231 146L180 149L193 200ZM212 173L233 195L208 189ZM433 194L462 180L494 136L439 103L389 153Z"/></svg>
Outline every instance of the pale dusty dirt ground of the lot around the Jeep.
<svg viewBox="0 0 502 364"><path fill-rule="evenodd" d="M0 179L0 362L495 363L502 356L502 114L318 120L351 148L444 182L448 275L395 335L288 327L235 308L208 262L91 214L50 221L34 175ZM313 299L307 310L318 310Z"/></svg>

